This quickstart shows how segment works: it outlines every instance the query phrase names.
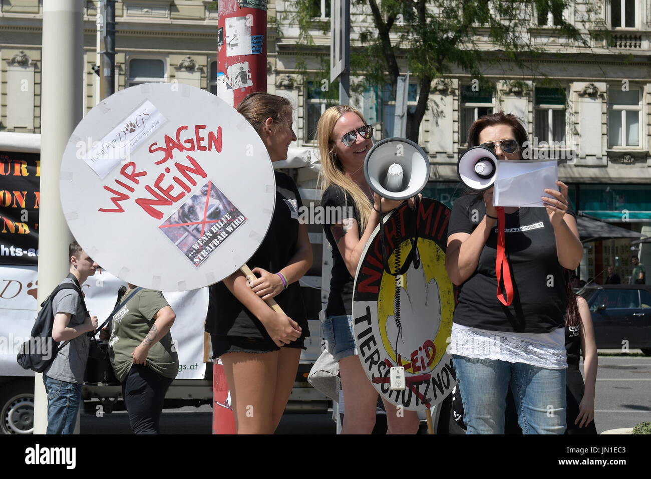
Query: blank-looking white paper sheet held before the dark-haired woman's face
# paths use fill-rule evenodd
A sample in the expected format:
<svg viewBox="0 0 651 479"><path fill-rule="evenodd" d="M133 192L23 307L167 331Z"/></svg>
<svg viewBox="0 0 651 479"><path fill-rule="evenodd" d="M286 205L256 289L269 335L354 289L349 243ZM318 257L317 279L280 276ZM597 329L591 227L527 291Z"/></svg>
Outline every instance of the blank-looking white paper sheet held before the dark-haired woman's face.
<svg viewBox="0 0 651 479"><path fill-rule="evenodd" d="M500 160L493 190L493 206L544 207L545 188L558 190L556 160Z"/></svg>

